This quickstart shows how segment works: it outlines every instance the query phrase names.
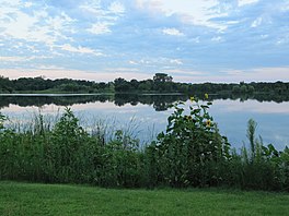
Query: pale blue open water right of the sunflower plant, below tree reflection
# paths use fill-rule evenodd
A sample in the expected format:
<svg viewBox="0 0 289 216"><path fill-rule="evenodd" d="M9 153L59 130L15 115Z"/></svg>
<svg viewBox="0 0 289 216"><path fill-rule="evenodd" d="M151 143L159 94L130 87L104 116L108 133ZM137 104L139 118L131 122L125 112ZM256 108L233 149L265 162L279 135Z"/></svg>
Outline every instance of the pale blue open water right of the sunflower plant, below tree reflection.
<svg viewBox="0 0 289 216"><path fill-rule="evenodd" d="M289 146L287 122L289 120L289 103L257 100L217 99L210 110L218 122L222 134L228 135L234 146L247 144L246 124L248 119L257 122L256 135L261 135L264 144L273 143L278 149Z"/></svg>

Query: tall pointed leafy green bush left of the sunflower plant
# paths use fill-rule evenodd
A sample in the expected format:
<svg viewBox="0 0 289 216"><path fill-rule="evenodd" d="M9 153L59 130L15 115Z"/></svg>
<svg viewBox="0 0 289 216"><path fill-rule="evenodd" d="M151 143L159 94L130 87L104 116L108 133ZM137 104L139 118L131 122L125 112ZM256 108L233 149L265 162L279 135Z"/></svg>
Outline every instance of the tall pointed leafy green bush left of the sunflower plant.
<svg viewBox="0 0 289 216"><path fill-rule="evenodd" d="M89 142L89 135L79 125L71 109L66 108L59 122L51 131L45 146L47 177L59 182L80 181L82 171L82 145Z"/></svg>

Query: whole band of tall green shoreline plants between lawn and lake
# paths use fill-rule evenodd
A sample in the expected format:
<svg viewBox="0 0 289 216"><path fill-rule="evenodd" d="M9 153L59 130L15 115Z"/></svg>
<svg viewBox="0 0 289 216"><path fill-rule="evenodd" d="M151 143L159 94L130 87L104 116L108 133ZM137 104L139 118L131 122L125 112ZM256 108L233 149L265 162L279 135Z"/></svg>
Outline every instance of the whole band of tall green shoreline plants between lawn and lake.
<svg viewBox="0 0 289 216"><path fill-rule="evenodd" d="M51 125L35 116L25 130L0 115L0 180L105 188L238 188L289 192L289 148L277 151L247 123L248 146L231 148L209 113L208 94L173 104L167 127L139 147L123 130L86 131L70 108Z"/></svg>

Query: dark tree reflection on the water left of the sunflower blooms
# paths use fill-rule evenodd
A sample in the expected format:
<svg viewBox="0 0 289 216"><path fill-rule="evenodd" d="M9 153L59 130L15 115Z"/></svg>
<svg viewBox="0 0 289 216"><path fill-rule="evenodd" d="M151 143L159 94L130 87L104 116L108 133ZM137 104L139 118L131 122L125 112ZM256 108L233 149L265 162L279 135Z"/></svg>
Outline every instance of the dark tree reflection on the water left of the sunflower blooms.
<svg viewBox="0 0 289 216"><path fill-rule="evenodd" d="M116 95L36 95L36 96L0 96L0 109L9 107L9 105L19 105L20 107L37 106L43 107L45 105L57 106L72 106L74 104L88 104L88 103L114 103L116 106L124 106L130 104L137 106L138 104L151 105L155 111L164 111L176 100L186 100L188 96L185 95L131 95L131 94L116 94Z"/></svg>

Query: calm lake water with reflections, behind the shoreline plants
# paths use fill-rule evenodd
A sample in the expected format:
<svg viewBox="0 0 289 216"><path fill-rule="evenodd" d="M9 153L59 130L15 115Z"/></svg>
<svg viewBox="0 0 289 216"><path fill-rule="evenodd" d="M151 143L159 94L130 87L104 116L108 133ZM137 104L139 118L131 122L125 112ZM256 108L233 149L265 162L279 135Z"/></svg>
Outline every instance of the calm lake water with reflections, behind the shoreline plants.
<svg viewBox="0 0 289 216"><path fill-rule="evenodd" d="M273 143L276 148L289 146L288 120L289 101L271 99L230 98L210 96L210 113L220 132L229 139L233 147L248 145L246 124L248 119L257 122L257 135L264 144ZM132 136L149 143L165 130L170 108L174 101L189 105L188 96L183 95L0 95L0 111L11 122L30 122L33 115L42 112L54 118L65 107L70 107L88 130L97 125L107 131L125 130Z"/></svg>

